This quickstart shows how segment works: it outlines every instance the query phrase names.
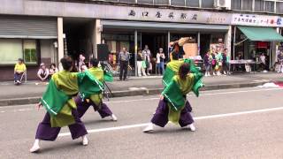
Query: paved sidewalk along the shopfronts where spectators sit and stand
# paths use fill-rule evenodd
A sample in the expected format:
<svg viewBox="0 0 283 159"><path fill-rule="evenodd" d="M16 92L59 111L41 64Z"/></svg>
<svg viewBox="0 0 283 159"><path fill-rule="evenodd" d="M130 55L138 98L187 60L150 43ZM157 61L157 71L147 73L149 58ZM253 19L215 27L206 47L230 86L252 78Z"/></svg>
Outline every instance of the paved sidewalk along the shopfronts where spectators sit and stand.
<svg viewBox="0 0 283 159"><path fill-rule="evenodd" d="M138 89L162 88L161 76L130 77L126 81L115 79L108 83L112 92L126 92ZM230 76L215 76L203 78L205 86L246 84L252 82L268 82L283 80L283 74L278 73L246 73ZM14 86L12 81L0 82L0 100L12 98L30 98L42 96L46 85L39 81L27 81L20 86Z"/></svg>

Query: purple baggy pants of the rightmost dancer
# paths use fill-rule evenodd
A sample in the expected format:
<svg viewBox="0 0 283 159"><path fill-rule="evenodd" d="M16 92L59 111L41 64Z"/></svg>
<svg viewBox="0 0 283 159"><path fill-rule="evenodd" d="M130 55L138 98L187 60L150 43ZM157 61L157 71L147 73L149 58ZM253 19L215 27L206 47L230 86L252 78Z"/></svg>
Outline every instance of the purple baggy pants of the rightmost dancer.
<svg viewBox="0 0 283 159"><path fill-rule="evenodd" d="M191 116L192 107L189 102L186 102L185 108L180 112L179 124L181 127L194 123L194 119ZM167 102L159 101L157 111L151 119L151 123L164 127L168 123L169 107Z"/></svg>

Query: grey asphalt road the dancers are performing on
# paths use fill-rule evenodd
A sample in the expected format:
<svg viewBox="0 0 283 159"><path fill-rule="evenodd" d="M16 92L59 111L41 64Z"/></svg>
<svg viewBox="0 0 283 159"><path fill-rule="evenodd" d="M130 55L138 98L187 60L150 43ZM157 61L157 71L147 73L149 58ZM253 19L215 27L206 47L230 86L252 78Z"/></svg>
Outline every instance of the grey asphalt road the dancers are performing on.
<svg viewBox="0 0 283 159"><path fill-rule="evenodd" d="M142 133L156 110L158 96L111 99L118 122L92 109L82 117L88 147L63 128L54 142L42 141L29 153L45 110L34 105L0 107L0 158L283 158L283 89L244 88L189 95L196 132L169 124Z"/></svg>

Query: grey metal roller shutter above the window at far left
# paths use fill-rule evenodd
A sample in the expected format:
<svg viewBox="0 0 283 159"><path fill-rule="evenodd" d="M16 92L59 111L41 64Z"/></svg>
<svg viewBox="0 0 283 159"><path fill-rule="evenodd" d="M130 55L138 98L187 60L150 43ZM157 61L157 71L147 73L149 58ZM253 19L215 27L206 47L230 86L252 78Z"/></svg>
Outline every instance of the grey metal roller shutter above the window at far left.
<svg viewBox="0 0 283 159"><path fill-rule="evenodd" d="M0 16L0 38L56 39L57 19Z"/></svg>

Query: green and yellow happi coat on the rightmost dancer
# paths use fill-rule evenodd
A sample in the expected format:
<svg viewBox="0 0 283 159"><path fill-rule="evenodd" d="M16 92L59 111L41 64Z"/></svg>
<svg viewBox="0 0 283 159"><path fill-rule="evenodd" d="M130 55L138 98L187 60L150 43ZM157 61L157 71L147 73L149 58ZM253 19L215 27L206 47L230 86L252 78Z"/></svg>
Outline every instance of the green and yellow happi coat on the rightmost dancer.
<svg viewBox="0 0 283 159"><path fill-rule="evenodd" d="M180 79L178 72L180 65L184 63L190 65L190 73L186 79ZM193 60L172 60L167 64L163 77L164 91L162 95L164 95L169 107L169 121L178 125L180 112L186 104L186 95L193 91L196 96L199 96L199 89L203 87L202 78L203 73L195 67Z"/></svg>

